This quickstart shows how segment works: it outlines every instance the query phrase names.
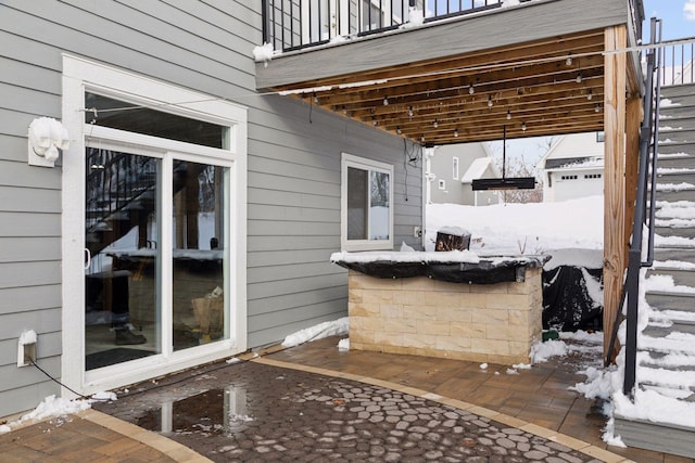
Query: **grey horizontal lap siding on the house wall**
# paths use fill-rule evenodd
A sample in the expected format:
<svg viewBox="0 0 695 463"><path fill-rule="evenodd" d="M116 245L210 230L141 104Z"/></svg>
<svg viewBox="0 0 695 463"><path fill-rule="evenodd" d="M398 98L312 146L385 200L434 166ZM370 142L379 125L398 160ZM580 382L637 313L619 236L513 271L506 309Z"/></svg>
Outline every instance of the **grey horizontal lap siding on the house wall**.
<svg viewBox="0 0 695 463"><path fill-rule="evenodd" d="M17 369L16 349L34 329L39 364L60 377L61 169L27 165L26 132L35 117L61 119L63 52L249 107L250 347L346 314L346 273L328 262L340 247L341 152L394 165L394 243L417 244L421 163L406 187L402 140L257 94L261 26L261 1L0 3L0 416L59 393L36 369Z"/></svg>

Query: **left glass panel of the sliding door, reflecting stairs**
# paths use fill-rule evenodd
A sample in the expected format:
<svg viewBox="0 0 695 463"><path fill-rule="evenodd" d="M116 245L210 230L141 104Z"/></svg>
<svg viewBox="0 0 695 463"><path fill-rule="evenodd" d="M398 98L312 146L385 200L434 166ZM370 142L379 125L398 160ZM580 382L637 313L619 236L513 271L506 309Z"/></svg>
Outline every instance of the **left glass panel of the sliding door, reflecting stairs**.
<svg viewBox="0 0 695 463"><path fill-rule="evenodd" d="M86 149L86 370L162 351L161 160Z"/></svg>

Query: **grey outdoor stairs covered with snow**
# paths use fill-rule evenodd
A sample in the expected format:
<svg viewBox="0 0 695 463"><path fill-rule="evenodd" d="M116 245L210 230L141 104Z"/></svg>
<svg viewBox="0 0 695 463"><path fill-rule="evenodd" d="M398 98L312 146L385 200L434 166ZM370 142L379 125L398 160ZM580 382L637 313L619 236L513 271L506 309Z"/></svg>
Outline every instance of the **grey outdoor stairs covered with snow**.
<svg viewBox="0 0 695 463"><path fill-rule="evenodd" d="M616 412L631 447L695 458L695 85L659 103L655 263L641 282L649 307L637 336L633 413ZM656 407L655 407L656 404ZM627 417L627 416L630 417Z"/></svg>

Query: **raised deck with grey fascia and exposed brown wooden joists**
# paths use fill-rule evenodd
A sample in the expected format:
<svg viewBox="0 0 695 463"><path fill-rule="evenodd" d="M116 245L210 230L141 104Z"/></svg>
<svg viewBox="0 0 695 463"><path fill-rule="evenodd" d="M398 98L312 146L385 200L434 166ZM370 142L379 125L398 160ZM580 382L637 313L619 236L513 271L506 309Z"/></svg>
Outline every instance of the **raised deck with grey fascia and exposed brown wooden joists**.
<svg viewBox="0 0 695 463"><path fill-rule="evenodd" d="M534 0L282 53L256 86L427 145L603 130L605 29L633 24L628 0Z"/></svg>

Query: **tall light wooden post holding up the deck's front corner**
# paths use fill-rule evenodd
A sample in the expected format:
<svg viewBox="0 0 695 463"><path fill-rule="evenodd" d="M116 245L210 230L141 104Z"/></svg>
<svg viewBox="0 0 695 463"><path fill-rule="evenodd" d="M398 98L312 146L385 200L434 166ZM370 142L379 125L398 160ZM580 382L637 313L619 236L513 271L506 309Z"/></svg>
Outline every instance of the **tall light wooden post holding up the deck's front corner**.
<svg viewBox="0 0 695 463"><path fill-rule="evenodd" d="M605 29L605 51L624 49L624 26ZM618 310L626 268L626 53L604 59L604 355Z"/></svg>

